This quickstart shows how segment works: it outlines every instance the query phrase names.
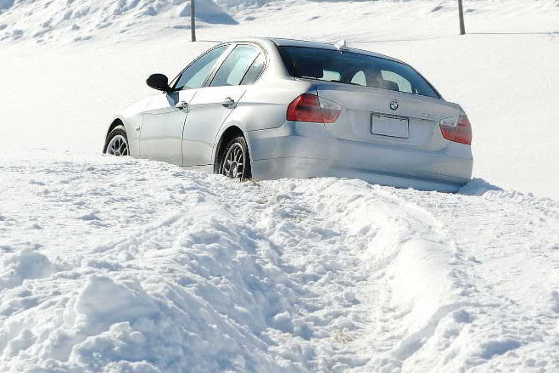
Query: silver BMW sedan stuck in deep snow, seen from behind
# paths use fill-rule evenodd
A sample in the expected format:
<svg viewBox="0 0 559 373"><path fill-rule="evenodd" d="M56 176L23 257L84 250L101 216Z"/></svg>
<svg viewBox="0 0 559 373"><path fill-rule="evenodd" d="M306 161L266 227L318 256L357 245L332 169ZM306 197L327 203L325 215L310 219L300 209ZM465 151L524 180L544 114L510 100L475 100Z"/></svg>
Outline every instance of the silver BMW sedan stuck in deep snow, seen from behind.
<svg viewBox="0 0 559 373"><path fill-rule="evenodd" d="M162 91L116 115L103 152L231 178L338 176L456 191L471 178L471 127L408 64L287 39L222 43Z"/></svg>

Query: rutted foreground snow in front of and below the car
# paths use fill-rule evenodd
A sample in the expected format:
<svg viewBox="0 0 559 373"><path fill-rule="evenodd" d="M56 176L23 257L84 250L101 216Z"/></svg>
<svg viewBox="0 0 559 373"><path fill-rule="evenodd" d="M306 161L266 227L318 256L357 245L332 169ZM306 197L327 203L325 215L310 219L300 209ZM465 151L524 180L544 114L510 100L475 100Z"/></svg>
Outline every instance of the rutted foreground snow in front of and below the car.
<svg viewBox="0 0 559 373"><path fill-rule="evenodd" d="M559 369L555 201L48 150L0 172L2 371Z"/></svg>

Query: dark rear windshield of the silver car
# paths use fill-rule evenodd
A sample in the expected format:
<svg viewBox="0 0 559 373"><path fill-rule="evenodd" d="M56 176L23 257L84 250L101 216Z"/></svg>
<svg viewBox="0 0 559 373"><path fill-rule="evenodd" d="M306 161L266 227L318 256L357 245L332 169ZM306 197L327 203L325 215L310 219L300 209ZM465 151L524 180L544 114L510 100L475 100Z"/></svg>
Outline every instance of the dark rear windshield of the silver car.
<svg viewBox="0 0 559 373"><path fill-rule="evenodd" d="M357 84L440 98L414 69L388 59L348 51L278 46L293 77Z"/></svg>

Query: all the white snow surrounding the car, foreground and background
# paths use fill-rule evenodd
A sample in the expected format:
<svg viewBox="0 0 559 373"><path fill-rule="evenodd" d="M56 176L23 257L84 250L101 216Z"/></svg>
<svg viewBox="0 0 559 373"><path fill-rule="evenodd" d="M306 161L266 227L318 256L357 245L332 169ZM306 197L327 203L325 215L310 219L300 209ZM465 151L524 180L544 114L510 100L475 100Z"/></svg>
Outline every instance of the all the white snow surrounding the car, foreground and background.
<svg viewBox="0 0 559 373"><path fill-rule="evenodd" d="M217 3L190 43L181 0L0 0L0 371L559 371L559 2L465 0L466 36L450 0ZM99 154L148 74L242 35L410 62L466 108L478 178Z"/></svg>

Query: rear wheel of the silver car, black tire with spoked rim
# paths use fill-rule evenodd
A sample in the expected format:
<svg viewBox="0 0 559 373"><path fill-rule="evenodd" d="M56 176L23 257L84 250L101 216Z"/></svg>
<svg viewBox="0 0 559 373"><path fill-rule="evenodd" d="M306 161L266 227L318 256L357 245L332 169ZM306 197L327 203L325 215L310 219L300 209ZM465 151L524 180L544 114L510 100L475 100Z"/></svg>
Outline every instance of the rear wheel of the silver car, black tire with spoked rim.
<svg viewBox="0 0 559 373"><path fill-rule="evenodd" d="M226 145L221 157L219 173L240 181L252 177L247 140L243 136L237 136Z"/></svg>

